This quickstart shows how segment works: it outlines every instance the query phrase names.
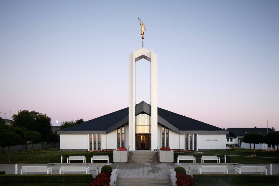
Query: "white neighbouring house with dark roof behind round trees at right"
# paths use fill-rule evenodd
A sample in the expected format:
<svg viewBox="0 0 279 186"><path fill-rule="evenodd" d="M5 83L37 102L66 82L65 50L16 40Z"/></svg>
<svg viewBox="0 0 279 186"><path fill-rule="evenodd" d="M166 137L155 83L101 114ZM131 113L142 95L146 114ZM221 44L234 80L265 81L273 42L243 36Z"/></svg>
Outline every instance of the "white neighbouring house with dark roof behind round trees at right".
<svg viewBox="0 0 279 186"><path fill-rule="evenodd" d="M240 147L243 149L253 149L254 144L243 142L243 137L248 133L259 133L263 136L267 132L273 132L271 128L227 128L229 133L226 135L226 145L228 147ZM268 144L255 144L255 149L277 149L277 146L268 146Z"/></svg>

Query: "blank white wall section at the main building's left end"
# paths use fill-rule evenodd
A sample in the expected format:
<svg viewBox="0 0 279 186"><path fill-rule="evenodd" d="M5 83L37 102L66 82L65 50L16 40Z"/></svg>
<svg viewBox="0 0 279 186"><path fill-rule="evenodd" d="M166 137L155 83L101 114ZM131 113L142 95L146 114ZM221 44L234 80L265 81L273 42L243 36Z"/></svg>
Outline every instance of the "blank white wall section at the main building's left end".
<svg viewBox="0 0 279 186"><path fill-rule="evenodd" d="M87 134L60 134L60 149L87 149Z"/></svg>

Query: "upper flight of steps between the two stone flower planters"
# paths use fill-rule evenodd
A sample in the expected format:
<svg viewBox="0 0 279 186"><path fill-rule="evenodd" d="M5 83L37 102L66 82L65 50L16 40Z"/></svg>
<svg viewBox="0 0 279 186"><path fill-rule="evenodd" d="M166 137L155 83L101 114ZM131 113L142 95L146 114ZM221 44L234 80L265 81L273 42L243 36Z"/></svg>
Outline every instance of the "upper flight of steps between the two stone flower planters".
<svg viewBox="0 0 279 186"><path fill-rule="evenodd" d="M158 163L157 151L130 151L128 163Z"/></svg>

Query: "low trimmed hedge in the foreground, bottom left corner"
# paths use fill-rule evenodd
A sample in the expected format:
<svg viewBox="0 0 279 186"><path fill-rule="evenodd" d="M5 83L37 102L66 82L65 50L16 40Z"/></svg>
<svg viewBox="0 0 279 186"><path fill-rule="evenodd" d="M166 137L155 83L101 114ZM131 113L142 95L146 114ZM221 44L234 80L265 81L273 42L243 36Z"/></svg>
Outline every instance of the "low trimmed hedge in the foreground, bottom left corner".
<svg viewBox="0 0 279 186"><path fill-rule="evenodd" d="M90 183L92 174L65 174L65 175L0 175L0 183Z"/></svg>

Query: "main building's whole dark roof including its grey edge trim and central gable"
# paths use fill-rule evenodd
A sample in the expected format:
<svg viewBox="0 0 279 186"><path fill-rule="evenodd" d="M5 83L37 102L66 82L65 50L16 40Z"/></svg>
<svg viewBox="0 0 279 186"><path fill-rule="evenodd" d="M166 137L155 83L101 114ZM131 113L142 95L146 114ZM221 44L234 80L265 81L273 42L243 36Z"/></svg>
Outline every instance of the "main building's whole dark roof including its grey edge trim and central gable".
<svg viewBox="0 0 279 186"><path fill-rule="evenodd" d="M135 114L146 113L151 115L151 106L144 101L135 106ZM112 112L81 124L74 125L60 130L59 134L65 133L86 133L88 131L99 131L100 133L109 133L112 130L128 123L129 108L124 108L116 112ZM205 130L205 131L222 131L223 129L215 127L204 122L185 117L168 110L158 108L158 123L174 130L177 133L192 130Z"/></svg>

